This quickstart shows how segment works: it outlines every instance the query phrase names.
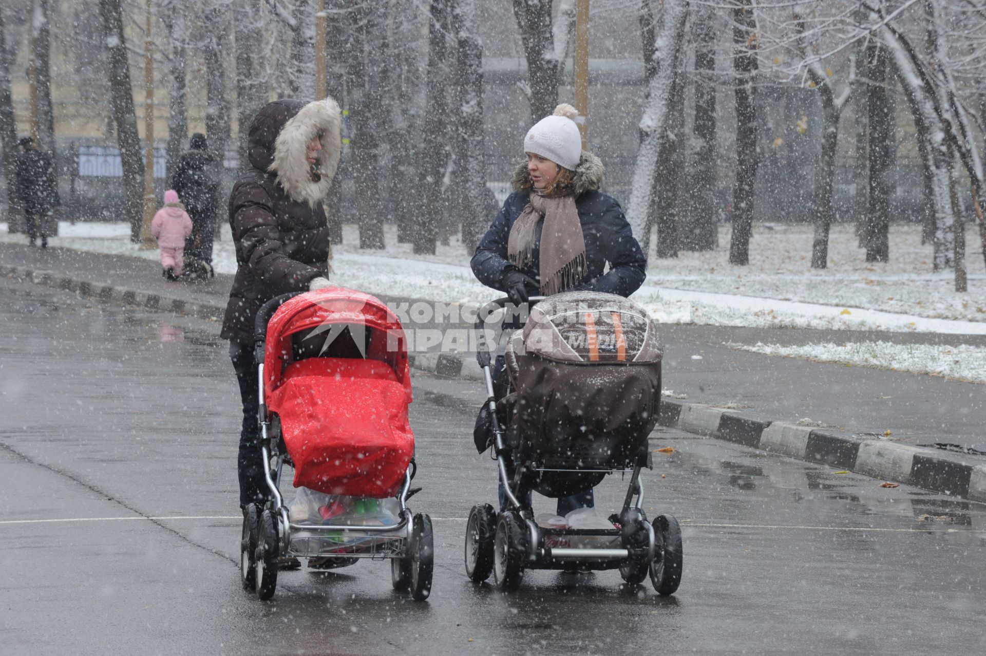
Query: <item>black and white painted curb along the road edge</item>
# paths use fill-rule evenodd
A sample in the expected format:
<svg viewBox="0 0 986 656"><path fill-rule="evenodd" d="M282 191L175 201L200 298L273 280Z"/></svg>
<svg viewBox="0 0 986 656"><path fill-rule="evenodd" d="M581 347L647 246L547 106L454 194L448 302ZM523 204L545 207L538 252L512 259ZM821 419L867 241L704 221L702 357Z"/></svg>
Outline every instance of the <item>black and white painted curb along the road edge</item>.
<svg viewBox="0 0 986 656"><path fill-rule="evenodd" d="M225 310L225 306L218 304L193 303L23 266L0 265L0 275L30 280L38 285L106 302L176 312L206 320L220 319ZM462 358L450 353L418 353L412 355L410 360L414 369L444 378L483 380L482 369L471 357ZM796 424L760 421L744 417L736 410L672 399L662 400L660 423L688 433L840 470L986 502L986 466L943 458L930 449Z"/></svg>

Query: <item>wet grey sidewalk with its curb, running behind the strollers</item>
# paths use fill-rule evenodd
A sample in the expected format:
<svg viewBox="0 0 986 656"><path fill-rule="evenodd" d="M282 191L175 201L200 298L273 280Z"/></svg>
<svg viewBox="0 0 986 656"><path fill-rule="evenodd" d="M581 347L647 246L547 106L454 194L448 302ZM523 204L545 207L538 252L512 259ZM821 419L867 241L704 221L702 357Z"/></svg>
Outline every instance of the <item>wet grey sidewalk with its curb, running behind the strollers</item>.
<svg viewBox="0 0 986 656"><path fill-rule="evenodd" d="M50 276L42 280L40 272ZM232 276L185 284L151 260L0 244L0 274L107 300L221 317ZM80 285L85 285L80 289ZM375 293L388 303L411 299ZM468 328L425 324L418 327ZM218 330L218 328L217 328ZM986 457L914 447L948 443L986 452L986 390L927 375L761 355L727 343L882 339L986 345L984 335L669 325L662 423L840 469L914 482L986 501ZM417 368L478 379L471 353L417 355ZM477 380L478 382L478 380ZM801 425L799 425L799 422ZM862 459L862 460L861 460ZM939 463L936 465L936 463ZM981 491L980 491L981 490Z"/></svg>

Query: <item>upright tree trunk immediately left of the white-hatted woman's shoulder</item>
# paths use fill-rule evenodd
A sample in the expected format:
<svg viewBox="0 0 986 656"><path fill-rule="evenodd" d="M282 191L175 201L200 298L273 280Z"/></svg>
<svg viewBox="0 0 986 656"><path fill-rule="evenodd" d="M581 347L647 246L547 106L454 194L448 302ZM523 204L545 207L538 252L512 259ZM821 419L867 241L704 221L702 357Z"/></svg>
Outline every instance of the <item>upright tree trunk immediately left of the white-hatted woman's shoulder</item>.
<svg viewBox="0 0 986 656"><path fill-rule="evenodd" d="M458 38L459 125L464 140L461 184L462 244L466 253L475 251L489 224L486 216L486 143L483 135L482 45L478 36L475 0L458 0L452 10L453 31Z"/></svg>

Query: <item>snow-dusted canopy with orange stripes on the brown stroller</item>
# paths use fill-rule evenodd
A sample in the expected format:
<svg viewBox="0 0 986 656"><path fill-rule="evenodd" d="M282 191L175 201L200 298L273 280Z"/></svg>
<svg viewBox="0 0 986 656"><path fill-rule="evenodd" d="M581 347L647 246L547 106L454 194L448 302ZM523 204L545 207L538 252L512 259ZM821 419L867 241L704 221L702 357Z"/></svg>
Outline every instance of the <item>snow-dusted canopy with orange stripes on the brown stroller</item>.
<svg viewBox="0 0 986 656"><path fill-rule="evenodd" d="M633 301L600 292L555 294L530 310L512 346L555 362L660 362L657 324Z"/></svg>

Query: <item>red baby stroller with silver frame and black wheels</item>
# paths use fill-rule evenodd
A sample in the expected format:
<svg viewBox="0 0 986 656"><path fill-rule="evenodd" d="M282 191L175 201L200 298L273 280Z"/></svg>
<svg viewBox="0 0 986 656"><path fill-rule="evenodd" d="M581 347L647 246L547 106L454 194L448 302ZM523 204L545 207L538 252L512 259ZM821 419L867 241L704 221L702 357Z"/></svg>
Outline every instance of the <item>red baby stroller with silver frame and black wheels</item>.
<svg viewBox="0 0 986 656"><path fill-rule="evenodd" d="M271 317L273 315L273 317ZM269 323L268 323L269 320ZM377 298L343 288L285 294L257 314L260 449L270 488L249 504L241 541L244 587L269 599L281 558L389 559L394 589L428 598L433 537L428 515L411 515L414 435L406 339ZM293 522L281 472L326 494L396 498L396 523Z"/></svg>

